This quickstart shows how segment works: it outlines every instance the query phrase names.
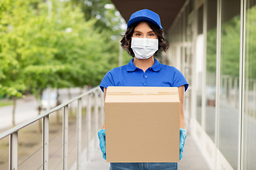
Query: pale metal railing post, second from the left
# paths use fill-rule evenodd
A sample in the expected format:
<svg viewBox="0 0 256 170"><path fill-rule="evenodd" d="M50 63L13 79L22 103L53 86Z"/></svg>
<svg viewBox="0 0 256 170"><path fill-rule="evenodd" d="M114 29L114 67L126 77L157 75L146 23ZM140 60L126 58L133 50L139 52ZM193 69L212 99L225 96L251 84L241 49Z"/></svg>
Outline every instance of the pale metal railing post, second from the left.
<svg viewBox="0 0 256 170"><path fill-rule="evenodd" d="M43 132L42 132L42 145L43 145L43 170L49 169L49 115L43 117Z"/></svg>

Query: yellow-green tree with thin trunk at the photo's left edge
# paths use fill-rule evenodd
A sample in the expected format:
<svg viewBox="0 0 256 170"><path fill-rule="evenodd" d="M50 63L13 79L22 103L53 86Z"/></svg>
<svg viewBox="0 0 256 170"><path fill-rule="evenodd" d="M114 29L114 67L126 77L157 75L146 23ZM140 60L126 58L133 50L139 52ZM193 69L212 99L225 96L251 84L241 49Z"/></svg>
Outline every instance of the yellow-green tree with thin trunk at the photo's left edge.
<svg viewBox="0 0 256 170"><path fill-rule="evenodd" d="M18 52L24 40L15 31L30 15L28 4L31 1L1 1L0 2L0 94L13 98L13 126L16 98L26 90L22 74L21 55ZM23 13L19 13L23 10ZM18 15L19 14L19 15Z"/></svg>

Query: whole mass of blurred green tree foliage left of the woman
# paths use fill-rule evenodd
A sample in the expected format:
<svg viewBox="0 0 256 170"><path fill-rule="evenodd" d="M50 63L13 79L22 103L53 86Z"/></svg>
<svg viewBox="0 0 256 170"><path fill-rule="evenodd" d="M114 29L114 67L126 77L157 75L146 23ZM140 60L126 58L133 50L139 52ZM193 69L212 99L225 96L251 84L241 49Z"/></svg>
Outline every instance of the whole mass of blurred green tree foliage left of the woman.
<svg viewBox="0 0 256 170"><path fill-rule="evenodd" d="M121 16L110 1L50 2L0 2L0 95L96 86L117 67Z"/></svg>

